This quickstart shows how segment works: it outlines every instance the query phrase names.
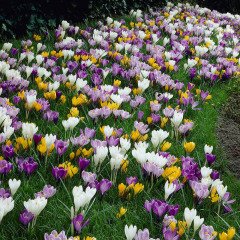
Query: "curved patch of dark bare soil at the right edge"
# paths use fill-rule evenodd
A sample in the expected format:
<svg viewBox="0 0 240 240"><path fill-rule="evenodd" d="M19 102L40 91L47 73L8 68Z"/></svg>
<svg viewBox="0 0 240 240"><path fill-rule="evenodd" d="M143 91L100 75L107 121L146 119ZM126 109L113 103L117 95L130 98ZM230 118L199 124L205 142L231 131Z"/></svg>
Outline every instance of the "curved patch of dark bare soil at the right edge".
<svg viewBox="0 0 240 240"><path fill-rule="evenodd" d="M228 168L240 178L240 92L234 93L218 119L217 136Z"/></svg>

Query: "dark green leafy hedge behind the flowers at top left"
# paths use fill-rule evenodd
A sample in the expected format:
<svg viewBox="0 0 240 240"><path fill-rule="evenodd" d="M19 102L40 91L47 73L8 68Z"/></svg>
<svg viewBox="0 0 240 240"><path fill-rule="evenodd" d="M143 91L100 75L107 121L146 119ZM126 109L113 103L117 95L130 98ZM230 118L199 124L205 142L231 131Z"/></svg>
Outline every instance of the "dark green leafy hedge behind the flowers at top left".
<svg viewBox="0 0 240 240"><path fill-rule="evenodd" d="M143 0L9 0L0 8L0 34L2 38L15 38L54 29L62 20L71 23L86 18L101 20L160 3L164 4L165 0L149 0L148 4Z"/></svg>

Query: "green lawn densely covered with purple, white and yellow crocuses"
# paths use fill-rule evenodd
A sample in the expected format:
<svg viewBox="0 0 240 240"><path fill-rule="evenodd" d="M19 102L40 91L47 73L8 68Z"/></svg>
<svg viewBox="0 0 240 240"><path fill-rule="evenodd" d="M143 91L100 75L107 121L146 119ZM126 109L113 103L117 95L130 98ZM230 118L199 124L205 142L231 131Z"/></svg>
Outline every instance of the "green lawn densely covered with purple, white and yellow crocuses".
<svg viewBox="0 0 240 240"><path fill-rule="evenodd" d="M0 240L240 239L216 134L240 17L169 3L93 25L2 46Z"/></svg>

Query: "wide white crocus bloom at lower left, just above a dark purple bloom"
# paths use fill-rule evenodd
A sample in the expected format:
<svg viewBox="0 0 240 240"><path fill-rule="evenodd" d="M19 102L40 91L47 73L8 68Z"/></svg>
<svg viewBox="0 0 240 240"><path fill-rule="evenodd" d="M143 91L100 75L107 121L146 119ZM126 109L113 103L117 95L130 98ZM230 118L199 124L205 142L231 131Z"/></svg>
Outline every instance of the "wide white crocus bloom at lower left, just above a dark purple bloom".
<svg viewBox="0 0 240 240"><path fill-rule="evenodd" d="M29 199L28 201L25 201L23 205L27 211L31 212L36 218L46 207L47 201L48 200L45 197L37 197L35 199Z"/></svg>

